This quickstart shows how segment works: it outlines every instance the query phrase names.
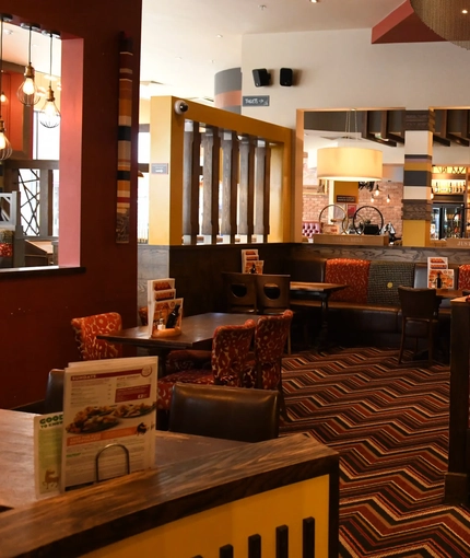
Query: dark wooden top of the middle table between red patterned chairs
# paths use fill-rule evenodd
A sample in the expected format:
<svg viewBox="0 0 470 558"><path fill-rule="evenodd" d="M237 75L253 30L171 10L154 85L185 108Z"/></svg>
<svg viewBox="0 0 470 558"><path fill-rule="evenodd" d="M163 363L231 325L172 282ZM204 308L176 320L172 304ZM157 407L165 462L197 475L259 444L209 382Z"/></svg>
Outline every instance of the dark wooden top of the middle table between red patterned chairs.
<svg viewBox="0 0 470 558"><path fill-rule="evenodd" d="M243 325L247 319L258 319L256 314L225 314L208 312L183 317L181 334L176 337L150 337L148 326L130 327L114 334L97 335L107 341L133 345L136 347L161 349L210 348L214 330L223 325ZM209 347L207 347L209 342Z"/></svg>

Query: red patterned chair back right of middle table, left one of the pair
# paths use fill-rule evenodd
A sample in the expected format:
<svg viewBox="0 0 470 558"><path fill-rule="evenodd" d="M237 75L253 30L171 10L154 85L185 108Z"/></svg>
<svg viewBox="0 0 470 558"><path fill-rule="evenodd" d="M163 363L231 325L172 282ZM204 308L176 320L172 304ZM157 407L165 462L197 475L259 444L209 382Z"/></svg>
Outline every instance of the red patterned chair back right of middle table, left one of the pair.
<svg viewBox="0 0 470 558"><path fill-rule="evenodd" d="M249 352L256 324L219 326L212 339L211 367L214 384L240 386L245 360Z"/></svg>

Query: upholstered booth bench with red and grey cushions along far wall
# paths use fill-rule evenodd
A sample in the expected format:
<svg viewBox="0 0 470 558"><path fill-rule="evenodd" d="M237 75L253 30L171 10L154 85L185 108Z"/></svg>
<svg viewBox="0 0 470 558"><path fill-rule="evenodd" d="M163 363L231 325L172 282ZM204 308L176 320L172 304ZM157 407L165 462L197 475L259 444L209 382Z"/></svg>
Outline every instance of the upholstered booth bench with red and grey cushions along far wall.
<svg viewBox="0 0 470 558"><path fill-rule="evenodd" d="M449 267L454 269L455 287L470 288L470 265ZM328 328L334 340L395 346L401 334L398 287L426 287L427 263L315 257L291 261L291 279L348 286L329 299ZM293 305L302 307L302 302L293 301ZM315 306L308 303L310 311ZM449 319L450 304L443 300L443 328L449 327Z"/></svg>

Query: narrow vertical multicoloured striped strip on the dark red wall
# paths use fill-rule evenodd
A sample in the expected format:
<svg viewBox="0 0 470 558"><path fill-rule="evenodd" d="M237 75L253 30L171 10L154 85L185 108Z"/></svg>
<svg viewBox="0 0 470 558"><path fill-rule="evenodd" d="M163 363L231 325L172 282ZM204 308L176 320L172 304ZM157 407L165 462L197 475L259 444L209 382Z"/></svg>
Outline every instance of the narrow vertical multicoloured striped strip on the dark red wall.
<svg viewBox="0 0 470 558"><path fill-rule="evenodd" d="M119 40L119 115L116 205L116 242L128 243L130 232L130 163L132 124L132 39L121 34Z"/></svg>

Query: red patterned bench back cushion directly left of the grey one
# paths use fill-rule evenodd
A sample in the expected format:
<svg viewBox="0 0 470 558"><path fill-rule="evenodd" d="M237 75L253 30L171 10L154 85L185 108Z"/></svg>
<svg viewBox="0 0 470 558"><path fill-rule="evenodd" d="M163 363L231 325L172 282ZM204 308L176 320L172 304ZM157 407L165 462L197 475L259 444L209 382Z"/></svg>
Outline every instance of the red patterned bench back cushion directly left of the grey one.
<svg viewBox="0 0 470 558"><path fill-rule="evenodd" d="M368 259L328 259L325 266L325 282L348 284L342 291L333 292L330 300L365 304L369 267Z"/></svg>

